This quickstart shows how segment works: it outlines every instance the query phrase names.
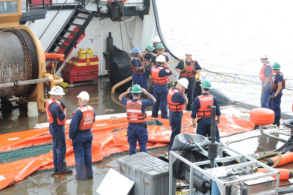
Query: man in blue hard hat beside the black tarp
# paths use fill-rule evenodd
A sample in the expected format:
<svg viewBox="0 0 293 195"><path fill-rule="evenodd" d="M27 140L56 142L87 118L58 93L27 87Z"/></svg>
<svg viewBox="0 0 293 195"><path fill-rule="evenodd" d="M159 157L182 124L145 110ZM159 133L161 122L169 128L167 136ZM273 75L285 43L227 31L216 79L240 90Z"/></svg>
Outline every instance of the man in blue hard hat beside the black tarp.
<svg viewBox="0 0 293 195"><path fill-rule="evenodd" d="M132 57L130 60L130 66L132 69L132 80L133 85L138 84L139 86L142 86L143 83L143 77L142 74L145 73L145 67L143 64L143 56L140 53L138 47L134 47L131 50ZM132 94L129 94L129 98L132 98Z"/></svg>

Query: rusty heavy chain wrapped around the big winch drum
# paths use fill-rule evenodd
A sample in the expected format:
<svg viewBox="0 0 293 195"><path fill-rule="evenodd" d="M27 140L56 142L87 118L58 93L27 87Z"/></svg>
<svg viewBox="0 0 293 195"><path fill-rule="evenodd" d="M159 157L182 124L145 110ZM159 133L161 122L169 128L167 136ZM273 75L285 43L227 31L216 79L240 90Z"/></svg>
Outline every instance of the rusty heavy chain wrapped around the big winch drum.
<svg viewBox="0 0 293 195"><path fill-rule="evenodd" d="M28 78L27 80L31 80L32 79L32 59L31 59L31 54L29 52L29 48L28 48L28 44L26 43L26 39L25 37L23 36L23 34L21 34L21 32L17 29L8 29L8 30L4 30L2 32L12 32L14 33L17 38L20 40L21 42L21 46L23 48L23 52L24 52L24 55L25 55L25 58L26 58L26 65L27 65L27 68L28 68L28 72L27 72L27 75L28 75ZM17 82L17 81L16 81ZM17 86L16 86L17 87ZM10 94L10 98L12 98L14 92L15 92L16 89L14 89L13 87L13 92L12 94ZM23 100L27 93L28 93L28 90L29 90L29 85L27 85L25 87L25 89L22 91L21 94L17 95L16 97L19 97L21 100Z"/></svg>

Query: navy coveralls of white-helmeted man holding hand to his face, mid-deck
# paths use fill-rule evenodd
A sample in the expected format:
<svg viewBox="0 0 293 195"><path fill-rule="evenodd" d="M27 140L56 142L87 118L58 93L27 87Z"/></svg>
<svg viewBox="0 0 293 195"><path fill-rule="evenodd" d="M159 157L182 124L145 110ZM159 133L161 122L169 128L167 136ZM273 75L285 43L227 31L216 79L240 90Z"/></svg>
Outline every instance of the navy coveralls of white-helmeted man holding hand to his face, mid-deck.
<svg viewBox="0 0 293 195"><path fill-rule="evenodd" d="M172 87L172 89L177 89L177 88ZM185 101L186 101L186 98L184 98L181 93L175 93L172 96L172 102L174 103L178 102L180 104L184 104ZM172 133L170 136L170 145L169 145L168 151L170 151L172 148L172 144L173 144L175 136L181 133L182 117L183 117L183 111L173 112L172 110L169 109L169 118L170 118L169 122L170 122Z"/></svg>

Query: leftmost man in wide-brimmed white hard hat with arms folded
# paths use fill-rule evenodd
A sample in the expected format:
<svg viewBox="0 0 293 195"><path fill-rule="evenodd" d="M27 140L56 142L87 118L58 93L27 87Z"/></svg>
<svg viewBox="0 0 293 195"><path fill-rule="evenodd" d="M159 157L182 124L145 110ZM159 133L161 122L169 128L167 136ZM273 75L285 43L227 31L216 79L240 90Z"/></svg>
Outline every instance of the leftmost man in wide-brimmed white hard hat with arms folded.
<svg viewBox="0 0 293 195"><path fill-rule="evenodd" d="M66 106L60 101L65 93L62 87L54 86L48 92L53 95L46 102L46 113L49 121L49 132L52 135L52 151L54 172L61 174L72 173L72 169L68 169L65 162L66 142L65 142L65 126L66 123Z"/></svg>

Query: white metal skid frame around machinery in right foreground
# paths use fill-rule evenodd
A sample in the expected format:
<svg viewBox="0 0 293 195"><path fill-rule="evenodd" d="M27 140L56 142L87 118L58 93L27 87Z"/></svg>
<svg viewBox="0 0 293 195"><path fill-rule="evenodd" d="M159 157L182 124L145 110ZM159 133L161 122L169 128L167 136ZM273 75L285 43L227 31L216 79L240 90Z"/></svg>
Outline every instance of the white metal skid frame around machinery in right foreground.
<svg viewBox="0 0 293 195"><path fill-rule="evenodd" d="M255 164L258 164L258 165L262 166L263 168L268 169L270 172L260 174L260 175L256 175L255 173L252 173L252 174L245 175L246 176L245 178L241 178L243 176L237 176L240 179L233 179L232 181L223 182L221 179L218 179L218 178L220 178L222 176L215 177L215 174L216 174L215 172L217 172L217 170L216 170L217 167L212 168L211 170L210 169L204 170L204 169L201 169L199 167L200 165L210 164L210 160L192 163L192 162L186 160L185 158L181 157L180 155L178 155L175 151L170 151L170 155L169 155L169 195L175 194L175 191L173 189L173 184L172 184L172 178L173 178L173 163L177 159L181 160L182 162L185 162L187 165L190 166L190 181L189 181L190 191L192 191L192 189L193 189L193 182L192 182L193 177L194 177L193 172L194 172L194 170L197 170L200 173L204 174L206 177L208 177L211 180L213 180L214 182L216 182L221 195L226 194L226 186L231 185L231 182L233 182L233 183L247 182L247 181L250 181L250 180L255 180L255 179L260 179L260 178L275 175L276 176L275 190L267 191L267 192L261 192L259 194L261 194L261 195L278 194L279 182L280 182L280 172L279 171L277 171L276 169L274 169L274 168L272 168L270 166L267 166L267 165L263 164L262 162L259 162L258 160L255 160L254 158L249 157L248 155L242 155L242 154L236 152L235 150L229 148L227 145L222 144L221 147L224 148L224 149L230 150L231 152L236 153L236 155L231 156L231 157L217 158L216 160L219 160L219 161L226 161L226 160L233 160L233 159L239 159L240 160L239 164L223 166L223 169L226 169L226 173L229 172L228 171L229 169L233 169L233 168L237 168L237 167L248 167L248 166L252 166L252 165L255 165ZM251 177L249 177L250 175L251 175ZM172 191L172 189L173 189L173 191ZM256 194L254 194L254 195L256 195Z"/></svg>

